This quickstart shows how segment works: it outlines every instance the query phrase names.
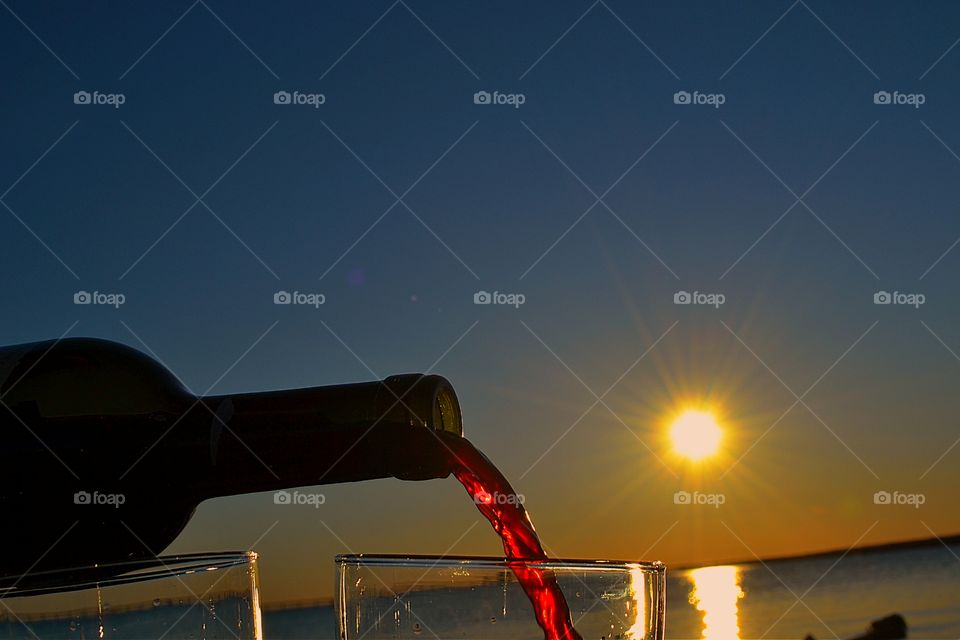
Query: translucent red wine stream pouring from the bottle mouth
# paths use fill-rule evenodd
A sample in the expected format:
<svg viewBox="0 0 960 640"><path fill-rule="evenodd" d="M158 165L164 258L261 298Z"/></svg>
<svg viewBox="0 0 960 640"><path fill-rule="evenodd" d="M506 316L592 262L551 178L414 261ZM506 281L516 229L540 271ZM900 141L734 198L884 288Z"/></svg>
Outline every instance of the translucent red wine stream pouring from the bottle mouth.
<svg viewBox="0 0 960 640"><path fill-rule="evenodd" d="M527 510L500 470L465 438L444 437L451 453L452 473L480 513L503 541L510 568L523 588L545 640L581 640L570 621L570 608L553 571L537 567L547 560Z"/></svg>

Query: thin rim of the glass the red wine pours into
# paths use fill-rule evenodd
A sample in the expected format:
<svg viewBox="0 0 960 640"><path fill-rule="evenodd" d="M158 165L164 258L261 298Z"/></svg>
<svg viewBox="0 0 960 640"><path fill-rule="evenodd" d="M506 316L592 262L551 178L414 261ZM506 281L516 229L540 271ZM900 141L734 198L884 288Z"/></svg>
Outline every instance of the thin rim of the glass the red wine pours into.
<svg viewBox="0 0 960 640"><path fill-rule="evenodd" d="M431 556L417 554L341 553L334 558L337 565L355 564L372 567L421 567L424 569L471 565L486 569L509 569L514 565L536 565L547 569L576 569L586 571L636 571L664 575L666 565L659 560L603 560L586 558L503 558L499 556Z"/></svg>

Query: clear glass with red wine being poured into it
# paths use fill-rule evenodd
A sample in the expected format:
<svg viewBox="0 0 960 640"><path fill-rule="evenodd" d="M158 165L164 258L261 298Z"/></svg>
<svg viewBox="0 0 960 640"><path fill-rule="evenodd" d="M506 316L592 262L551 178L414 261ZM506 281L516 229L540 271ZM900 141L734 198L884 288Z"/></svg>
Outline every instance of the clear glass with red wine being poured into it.
<svg viewBox="0 0 960 640"><path fill-rule="evenodd" d="M336 564L341 640L541 640L522 584L531 574L541 589L559 590L584 640L663 638L659 562L351 554Z"/></svg>

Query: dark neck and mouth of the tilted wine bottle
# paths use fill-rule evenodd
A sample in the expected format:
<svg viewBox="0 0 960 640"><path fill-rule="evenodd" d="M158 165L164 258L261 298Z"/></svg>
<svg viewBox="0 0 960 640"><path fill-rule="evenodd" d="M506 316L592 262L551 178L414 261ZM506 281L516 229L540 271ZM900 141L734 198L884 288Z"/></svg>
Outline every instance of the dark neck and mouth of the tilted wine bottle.
<svg viewBox="0 0 960 640"><path fill-rule="evenodd" d="M197 487L204 497L442 478L450 473L449 455L436 432L462 435L456 396L438 376L207 396L191 413L192 429L205 441L194 450L208 453Z"/></svg>

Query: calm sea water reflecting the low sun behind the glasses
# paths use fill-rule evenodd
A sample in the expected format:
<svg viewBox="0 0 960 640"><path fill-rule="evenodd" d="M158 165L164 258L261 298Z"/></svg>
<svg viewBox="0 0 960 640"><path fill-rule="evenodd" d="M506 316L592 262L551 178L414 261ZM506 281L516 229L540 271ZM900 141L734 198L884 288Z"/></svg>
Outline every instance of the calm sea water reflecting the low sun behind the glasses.
<svg viewBox="0 0 960 640"><path fill-rule="evenodd" d="M669 640L856 638L893 614L906 621L911 639L956 639L960 540L673 571L668 566L666 600ZM267 608L263 635L335 639L333 608Z"/></svg>

